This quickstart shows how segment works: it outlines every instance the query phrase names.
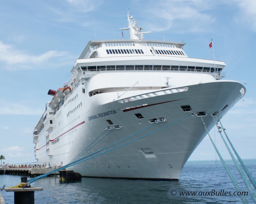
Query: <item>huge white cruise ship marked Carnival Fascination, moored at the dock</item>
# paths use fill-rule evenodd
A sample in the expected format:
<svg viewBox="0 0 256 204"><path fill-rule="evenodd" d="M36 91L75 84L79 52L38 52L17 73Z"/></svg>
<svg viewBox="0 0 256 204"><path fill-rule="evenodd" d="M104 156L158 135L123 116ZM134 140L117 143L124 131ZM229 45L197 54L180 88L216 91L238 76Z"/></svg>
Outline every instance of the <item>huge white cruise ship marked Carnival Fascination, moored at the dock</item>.
<svg viewBox="0 0 256 204"><path fill-rule="evenodd" d="M38 164L67 165L88 177L178 180L210 130L245 94L223 80L225 63L189 58L185 43L146 40L127 15L129 39L91 40L69 82L33 131Z"/></svg>

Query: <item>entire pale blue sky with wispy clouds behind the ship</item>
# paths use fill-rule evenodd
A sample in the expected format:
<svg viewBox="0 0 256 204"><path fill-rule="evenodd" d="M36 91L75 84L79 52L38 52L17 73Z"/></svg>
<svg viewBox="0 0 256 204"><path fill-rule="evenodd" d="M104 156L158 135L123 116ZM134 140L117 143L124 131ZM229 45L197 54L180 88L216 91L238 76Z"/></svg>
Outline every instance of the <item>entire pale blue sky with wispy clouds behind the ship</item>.
<svg viewBox="0 0 256 204"><path fill-rule="evenodd" d="M48 90L69 81L75 60L94 39L94 22L96 39L122 38L128 8L143 31L152 31L145 39L184 41L189 57L213 59L213 39L225 79L246 82L244 100L222 123L241 158L256 158L256 1L9 0L0 7L0 155L6 163L35 161L32 131L51 100ZM210 132L230 159L217 133ZM215 160L208 136L189 160Z"/></svg>

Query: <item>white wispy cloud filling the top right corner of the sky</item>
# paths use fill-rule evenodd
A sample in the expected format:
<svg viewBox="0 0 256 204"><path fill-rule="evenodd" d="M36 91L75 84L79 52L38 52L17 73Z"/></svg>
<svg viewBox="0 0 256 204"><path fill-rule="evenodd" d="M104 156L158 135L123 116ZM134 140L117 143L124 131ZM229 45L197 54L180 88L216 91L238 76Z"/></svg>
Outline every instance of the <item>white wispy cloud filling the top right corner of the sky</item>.
<svg viewBox="0 0 256 204"><path fill-rule="evenodd" d="M235 0L235 2L241 11L241 15L238 15L237 21L242 21L243 24L256 32L256 1Z"/></svg>

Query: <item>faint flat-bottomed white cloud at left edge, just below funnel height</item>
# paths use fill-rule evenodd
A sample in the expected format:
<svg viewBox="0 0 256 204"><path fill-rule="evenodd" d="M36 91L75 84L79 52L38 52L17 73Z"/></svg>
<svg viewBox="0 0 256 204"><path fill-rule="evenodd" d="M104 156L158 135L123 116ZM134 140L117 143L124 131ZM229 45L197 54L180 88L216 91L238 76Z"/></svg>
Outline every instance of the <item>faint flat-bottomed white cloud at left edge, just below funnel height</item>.
<svg viewBox="0 0 256 204"><path fill-rule="evenodd" d="M41 115L42 110L24 106L19 103L0 101L0 115Z"/></svg>

